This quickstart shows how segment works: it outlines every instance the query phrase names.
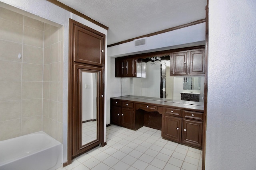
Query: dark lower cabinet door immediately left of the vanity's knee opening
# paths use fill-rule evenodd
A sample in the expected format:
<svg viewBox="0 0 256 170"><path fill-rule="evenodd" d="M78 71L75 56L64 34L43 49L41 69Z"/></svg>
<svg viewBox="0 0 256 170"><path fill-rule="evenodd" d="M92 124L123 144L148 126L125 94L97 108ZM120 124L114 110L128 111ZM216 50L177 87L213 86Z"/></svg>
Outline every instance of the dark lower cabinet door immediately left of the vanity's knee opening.
<svg viewBox="0 0 256 170"><path fill-rule="evenodd" d="M133 109L122 108L121 125L127 128L133 128L132 123Z"/></svg>

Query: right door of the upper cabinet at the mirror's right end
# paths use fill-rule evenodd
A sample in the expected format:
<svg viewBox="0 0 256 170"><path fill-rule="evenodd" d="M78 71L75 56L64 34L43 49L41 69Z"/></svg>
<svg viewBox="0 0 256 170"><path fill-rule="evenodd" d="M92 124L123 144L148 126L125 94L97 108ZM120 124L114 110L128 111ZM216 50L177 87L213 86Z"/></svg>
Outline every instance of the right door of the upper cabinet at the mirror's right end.
<svg viewBox="0 0 256 170"><path fill-rule="evenodd" d="M190 75L204 74L204 53L205 50L190 51Z"/></svg>

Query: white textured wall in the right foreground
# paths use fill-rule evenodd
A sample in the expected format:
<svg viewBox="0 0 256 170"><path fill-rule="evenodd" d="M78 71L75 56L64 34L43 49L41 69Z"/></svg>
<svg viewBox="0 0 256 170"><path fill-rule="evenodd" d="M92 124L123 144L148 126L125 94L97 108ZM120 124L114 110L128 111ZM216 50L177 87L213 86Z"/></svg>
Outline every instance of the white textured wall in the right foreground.
<svg viewBox="0 0 256 170"><path fill-rule="evenodd" d="M209 1L206 170L256 169L256 1Z"/></svg>

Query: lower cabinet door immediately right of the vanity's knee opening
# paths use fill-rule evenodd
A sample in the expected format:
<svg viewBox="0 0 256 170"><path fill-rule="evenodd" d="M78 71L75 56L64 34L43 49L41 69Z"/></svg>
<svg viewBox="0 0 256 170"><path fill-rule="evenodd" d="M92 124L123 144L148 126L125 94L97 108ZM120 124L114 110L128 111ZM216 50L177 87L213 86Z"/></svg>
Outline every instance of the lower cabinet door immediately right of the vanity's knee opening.
<svg viewBox="0 0 256 170"><path fill-rule="evenodd" d="M162 116L162 137L172 141L180 142L181 139L181 121L179 117L163 115Z"/></svg>

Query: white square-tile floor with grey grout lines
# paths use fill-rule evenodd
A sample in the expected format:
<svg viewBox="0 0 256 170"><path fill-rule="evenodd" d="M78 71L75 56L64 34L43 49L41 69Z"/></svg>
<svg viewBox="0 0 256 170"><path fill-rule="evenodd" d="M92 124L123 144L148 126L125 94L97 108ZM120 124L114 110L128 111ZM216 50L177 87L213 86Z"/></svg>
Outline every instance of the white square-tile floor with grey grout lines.
<svg viewBox="0 0 256 170"><path fill-rule="evenodd" d="M78 156L58 170L201 170L202 151L162 139L161 131L111 125L104 147Z"/></svg>

